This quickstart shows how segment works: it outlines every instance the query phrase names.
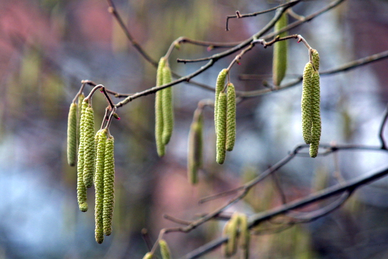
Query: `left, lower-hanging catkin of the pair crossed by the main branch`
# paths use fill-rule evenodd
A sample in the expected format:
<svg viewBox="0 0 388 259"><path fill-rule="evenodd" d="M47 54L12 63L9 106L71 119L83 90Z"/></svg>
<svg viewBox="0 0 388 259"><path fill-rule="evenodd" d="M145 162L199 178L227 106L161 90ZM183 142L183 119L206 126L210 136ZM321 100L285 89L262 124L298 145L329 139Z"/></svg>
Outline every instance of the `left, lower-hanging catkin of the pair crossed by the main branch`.
<svg viewBox="0 0 388 259"><path fill-rule="evenodd" d="M162 57L159 61L158 69L156 72L156 86L163 84L163 67L166 59ZM162 91L158 91L155 94L155 141L158 155L164 156L165 147L163 144L163 110L162 110Z"/></svg>

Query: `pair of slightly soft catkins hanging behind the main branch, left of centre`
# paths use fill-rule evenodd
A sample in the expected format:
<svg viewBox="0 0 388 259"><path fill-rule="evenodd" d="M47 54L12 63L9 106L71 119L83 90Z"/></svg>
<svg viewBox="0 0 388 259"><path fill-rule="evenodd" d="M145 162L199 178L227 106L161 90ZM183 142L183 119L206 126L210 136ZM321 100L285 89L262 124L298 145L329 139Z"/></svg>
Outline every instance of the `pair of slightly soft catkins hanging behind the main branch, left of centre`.
<svg viewBox="0 0 388 259"><path fill-rule="evenodd" d="M172 81L171 69L165 57L159 61L156 72L156 86ZM173 89L167 87L156 92L155 97L155 139L158 155L164 156L165 146L170 141L174 128Z"/></svg>

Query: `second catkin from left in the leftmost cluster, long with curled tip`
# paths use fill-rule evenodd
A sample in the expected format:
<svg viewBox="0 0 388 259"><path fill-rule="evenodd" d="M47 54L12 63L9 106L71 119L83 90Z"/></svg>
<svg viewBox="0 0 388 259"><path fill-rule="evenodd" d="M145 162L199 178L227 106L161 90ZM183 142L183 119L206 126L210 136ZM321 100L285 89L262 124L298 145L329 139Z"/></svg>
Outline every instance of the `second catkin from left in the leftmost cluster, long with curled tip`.
<svg viewBox="0 0 388 259"><path fill-rule="evenodd" d="M80 144L78 146L78 161L77 161L77 200L80 210L85 212L88 210L88 204L86 203L86 187L83 183L83 133L84 133L84 120L85 111L88 106L88 101L82 101L81 105L81 118L80 118Z"/></svg>

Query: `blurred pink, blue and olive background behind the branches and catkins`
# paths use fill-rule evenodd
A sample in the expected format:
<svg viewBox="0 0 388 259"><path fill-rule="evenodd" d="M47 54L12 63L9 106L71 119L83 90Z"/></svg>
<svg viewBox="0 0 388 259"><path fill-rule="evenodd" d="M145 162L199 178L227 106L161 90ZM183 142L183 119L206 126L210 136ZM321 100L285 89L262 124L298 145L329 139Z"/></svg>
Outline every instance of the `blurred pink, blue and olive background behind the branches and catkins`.
<svg viewBox="0 0 388 259"><path fill-rule="evenodd" d="M308 15L330 1L293 8ZM115 0L130 32L156 61L179 36L236 42L258 32L274 15L231 19L226 15L275 6L266 0ZM225 197L198 205L201 197L237 187L303 142L301 84L248 99L237 107L237 140L224 165L215 162L213 111L205 110L205 165L200 182L186 177L187 136L197 102L214 93L190 84L174 87L175 128L167 153L158 158L154 141L154 95L120 108L113 121L115 208L113 234L94 237L94 190L89 210L78 209L76 169L66 162L67 113L81 80L101 83L119 93L155 85L156 69L133 49L104 0L3 0L0 2L0 258L137 259L147 252L141 230L155 241L163 227L178 226L163 214L192 220L227 202ZM290 21L294 21L290 18ZM304 36L321 56L321 70L388 49L388 2L347 0L336 9L291 31ZM285 83L302 74L307 49L289 42ZM203 63L177 64L219 51L182 45L170 65L181 75ZM215 85L234 56L218 61L194 80ZM251 50L231 70L237 90L271 82L272 48ZM388 61L321 78L322 143L379 145L378 129L388 101ZM241 81L259 74L258 81ZM88 89L89 90L89 89ZM88 90L85 93L88 93ZM119 100L115 100L117 102ZM106 101L93 98L96 125ZM99 126L98 126L99 127ZM368 174L387 164L383 152L345 151L310 159L298 157L276 172L287 200ZM358 190L339 210L312 223L289 227L268 223L254 231L251 258L387 258L388 182L381 179ZM228 208L251 215L281 204L268 178ZM310 209L318 208L319 205ZM211 221L188 234L165 236L174 258L219 237L225 222ZM287 227L287 226L286 226ZM220 249L203 258L222 258ZM237 258L237 257L236 257Z"/></svg>

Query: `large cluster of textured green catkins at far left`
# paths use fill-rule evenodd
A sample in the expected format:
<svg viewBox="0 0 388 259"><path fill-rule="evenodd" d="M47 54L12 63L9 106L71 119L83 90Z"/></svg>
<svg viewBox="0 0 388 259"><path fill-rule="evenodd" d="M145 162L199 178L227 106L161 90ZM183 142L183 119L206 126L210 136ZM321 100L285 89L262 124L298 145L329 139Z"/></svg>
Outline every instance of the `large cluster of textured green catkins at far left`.
<svg viewBox="0 0 388 259"><path fill-rule="evenodd" d="M112 232L114 204L114 139L107 129L94 134L94 113L88 98L80 95L77 104L70 105L67 125L67 160L75 166L77 158L77 199L80 210L88 210L86 190L93 183L96 189L96 241ZM79 105L82 103L81 105ZM77 129L79 129L77 131ZM77 141L78 140L78 141Z"/></svg>

